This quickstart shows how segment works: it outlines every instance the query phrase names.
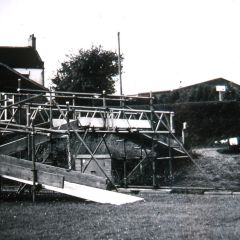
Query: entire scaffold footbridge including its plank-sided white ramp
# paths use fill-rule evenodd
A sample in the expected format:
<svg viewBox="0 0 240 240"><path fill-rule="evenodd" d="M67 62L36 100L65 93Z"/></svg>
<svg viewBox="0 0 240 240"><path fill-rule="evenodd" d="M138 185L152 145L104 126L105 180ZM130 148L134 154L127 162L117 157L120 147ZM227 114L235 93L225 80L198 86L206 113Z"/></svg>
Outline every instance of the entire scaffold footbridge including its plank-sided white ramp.
<svg viewBox="0 0 240 240"><path fill-rule="evenodd" d="M149 107L129 107L134 101ZM174 113L155 110L152 96L19 88L0 93L0 104L0 176L20 182L18 193L30 185L33 201L40 188L102 203L138 201L118 187L156 188L160 172L171 179L173 159L190 157L174 135Z"/></svg>

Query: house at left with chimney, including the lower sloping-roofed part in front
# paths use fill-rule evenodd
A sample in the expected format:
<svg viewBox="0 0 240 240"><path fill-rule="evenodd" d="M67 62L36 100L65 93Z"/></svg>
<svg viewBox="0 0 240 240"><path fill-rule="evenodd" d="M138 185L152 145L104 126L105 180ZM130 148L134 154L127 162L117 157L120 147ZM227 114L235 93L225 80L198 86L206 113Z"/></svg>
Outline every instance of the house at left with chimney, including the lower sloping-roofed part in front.
<svg viewBox="0 0 240 240"><path fill-rule="evenodd" d="M44 63L36 50L36 38L32 34L27 47L0 47L0 121L9 121L18 115L15 109L6 110L7 106L20 100L18 90L43 90ZM26 98L21 96L21 100ZM46 102L39 98L39 102ZM19 121L20 123L20 121Z"/></svg>

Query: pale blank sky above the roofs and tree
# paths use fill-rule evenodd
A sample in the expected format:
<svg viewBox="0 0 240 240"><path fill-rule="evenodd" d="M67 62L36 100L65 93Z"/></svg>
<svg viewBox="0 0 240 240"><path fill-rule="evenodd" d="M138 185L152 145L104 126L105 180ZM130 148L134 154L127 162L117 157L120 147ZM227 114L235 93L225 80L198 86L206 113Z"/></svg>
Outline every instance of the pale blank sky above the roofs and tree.
<svg viewBox="0 0 240 240"><path fill-rule="evenodd" d="M117 52L118 32L124 94L240 84L239 12L240 0L0 0L0 45L27 46L34 34L47 87L67 54Z"/></svg>

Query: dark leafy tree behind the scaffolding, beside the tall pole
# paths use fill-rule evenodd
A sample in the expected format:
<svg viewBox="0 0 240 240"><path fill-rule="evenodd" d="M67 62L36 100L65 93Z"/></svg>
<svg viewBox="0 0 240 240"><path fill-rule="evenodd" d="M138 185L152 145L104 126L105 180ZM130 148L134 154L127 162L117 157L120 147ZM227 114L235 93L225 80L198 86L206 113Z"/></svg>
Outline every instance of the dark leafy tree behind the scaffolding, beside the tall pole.
<svg viewBox="0 0 240 240"><path fill-rule="evenodd" d="M111 94L115 92L117 75L117 53L92 46L89 50L80 49L77 55L69 55L52 82L57 91L102 93L105 90Z"/></svg>

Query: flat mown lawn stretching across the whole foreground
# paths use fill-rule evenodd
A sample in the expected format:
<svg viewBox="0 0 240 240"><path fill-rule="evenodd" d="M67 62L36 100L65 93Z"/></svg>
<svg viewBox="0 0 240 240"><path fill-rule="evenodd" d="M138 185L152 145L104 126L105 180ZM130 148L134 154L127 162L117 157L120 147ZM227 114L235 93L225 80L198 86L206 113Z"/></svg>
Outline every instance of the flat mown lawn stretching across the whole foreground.
<svg viewBox="0 0 240 240"><path fill-rule="evenodd" d="M62 195L2 196L0 239L239 239L240 196L141 193L102 205Z"/></svg>

